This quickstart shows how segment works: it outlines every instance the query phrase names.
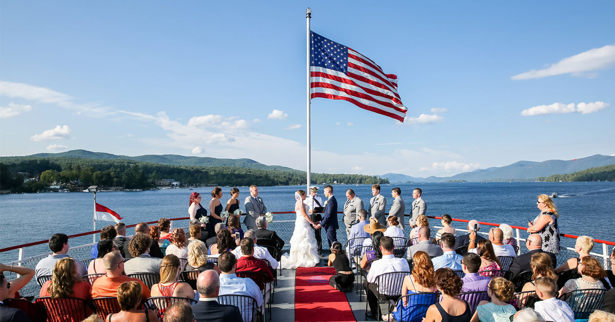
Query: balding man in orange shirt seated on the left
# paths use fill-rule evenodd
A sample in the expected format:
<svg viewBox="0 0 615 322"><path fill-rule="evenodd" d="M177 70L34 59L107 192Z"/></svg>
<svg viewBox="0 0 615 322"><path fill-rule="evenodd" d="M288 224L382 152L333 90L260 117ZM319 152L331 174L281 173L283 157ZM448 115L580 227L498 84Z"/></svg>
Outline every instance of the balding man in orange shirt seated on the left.
<svg viewBox="0 0 615 322"><path fill-rule="evenodd" d="M130 260L132 261L132 259ZM96 297L117 297L117 288L125 281L137 281L141 284L141 300L148 299L150 293L149 288L137 278L127 277L124 275L124 259L122 255L113 251L103 257L105 263L106 274L97 278L92 283L92 298Z"/></svg>

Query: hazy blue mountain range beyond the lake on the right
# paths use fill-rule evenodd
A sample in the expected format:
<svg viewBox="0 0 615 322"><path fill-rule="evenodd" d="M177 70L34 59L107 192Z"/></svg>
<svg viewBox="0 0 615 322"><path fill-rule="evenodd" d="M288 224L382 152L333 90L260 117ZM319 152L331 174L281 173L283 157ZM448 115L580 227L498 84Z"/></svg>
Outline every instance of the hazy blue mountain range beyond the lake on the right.
<svg viewBox="0 0 615 322"><path fill-rule="evenodd" d="M542 162L519 161L504 167L477 169L448 177L430 176L427 178L402 175L400 173L385 173L381 178L387 178L391 183L397 182L446 182L446 181L504 181L504 180L535 180L540 176L564 175L587 168L602 167L615 164L615 156L596 154L574 160L547 160Z"/></svg>

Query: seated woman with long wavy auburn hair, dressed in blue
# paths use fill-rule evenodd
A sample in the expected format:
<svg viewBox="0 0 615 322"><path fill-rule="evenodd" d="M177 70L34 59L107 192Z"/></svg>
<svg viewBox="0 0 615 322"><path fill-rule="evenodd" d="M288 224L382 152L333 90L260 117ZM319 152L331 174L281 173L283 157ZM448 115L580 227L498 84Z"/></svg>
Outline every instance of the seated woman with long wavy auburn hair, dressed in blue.
<svg viewBox="0 0 615 322"><path fill-rule="evenodd" d="M403 278L402 296L437 291L434 265L431 264L428 254L424 251L417 251L413 256L413 263L412 275ZM435 302L437 296L437 294L425 294L422 297L403 297L402 302L395 307L391 314L383 315L383 320L391 322L395 318L397 321L421 322L429 307L428 303Z"/></svg>

